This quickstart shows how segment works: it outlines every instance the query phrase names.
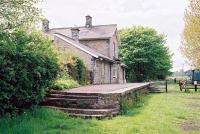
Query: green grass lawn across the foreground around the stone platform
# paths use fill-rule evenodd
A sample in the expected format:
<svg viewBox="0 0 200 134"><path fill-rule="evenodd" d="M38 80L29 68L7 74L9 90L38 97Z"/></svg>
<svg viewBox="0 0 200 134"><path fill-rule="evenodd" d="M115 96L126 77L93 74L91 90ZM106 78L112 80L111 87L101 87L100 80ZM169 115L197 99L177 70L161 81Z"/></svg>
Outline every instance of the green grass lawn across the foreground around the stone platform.
<svg viewBox="0 0 200 134"><path fill-rule="evenodd" d="M34 108L13 119L0 119L1 134L199 134L200 92L151 94L126 115L83 120L47 108Z"/></svg>

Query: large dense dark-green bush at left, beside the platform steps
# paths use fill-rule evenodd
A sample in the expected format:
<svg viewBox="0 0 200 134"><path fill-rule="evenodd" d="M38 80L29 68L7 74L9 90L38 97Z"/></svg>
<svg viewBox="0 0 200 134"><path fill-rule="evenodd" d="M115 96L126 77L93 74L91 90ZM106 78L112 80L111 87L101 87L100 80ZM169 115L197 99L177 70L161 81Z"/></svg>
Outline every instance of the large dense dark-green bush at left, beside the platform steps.
<svg viewBox="0 0 200 134"><path fill-rule="evenodd" d="M39 33L0 32L0 115L39 103L58 70L51 40Z"/></svg>

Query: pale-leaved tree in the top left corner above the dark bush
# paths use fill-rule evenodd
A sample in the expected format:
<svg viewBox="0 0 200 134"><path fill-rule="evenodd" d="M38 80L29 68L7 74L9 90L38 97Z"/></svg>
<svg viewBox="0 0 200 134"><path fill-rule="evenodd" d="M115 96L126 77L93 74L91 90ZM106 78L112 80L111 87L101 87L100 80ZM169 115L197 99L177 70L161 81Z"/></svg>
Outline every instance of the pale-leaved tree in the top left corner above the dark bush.
<svg viewBox="0 0 200 134"><path fill-rule="evenodd" d="M0 30L31 28L40 18L35 6L42 0L0 0Z"/></svg>

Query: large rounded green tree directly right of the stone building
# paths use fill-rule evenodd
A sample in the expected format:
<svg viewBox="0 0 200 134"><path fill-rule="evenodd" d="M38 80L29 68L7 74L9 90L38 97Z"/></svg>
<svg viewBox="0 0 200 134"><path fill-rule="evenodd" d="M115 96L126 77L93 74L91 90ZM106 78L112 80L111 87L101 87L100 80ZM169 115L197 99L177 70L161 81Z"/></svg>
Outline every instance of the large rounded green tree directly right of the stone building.
<svg viewBox="0 0 200 134"><path fill-rule="evenodd" d="M165 36L142 26L122 29L121 60L128 66L128 81L165 78L171 68L171 55L164 46Z"/></svg>

